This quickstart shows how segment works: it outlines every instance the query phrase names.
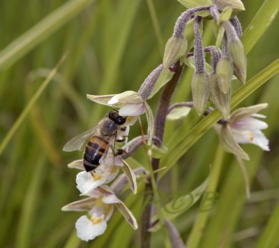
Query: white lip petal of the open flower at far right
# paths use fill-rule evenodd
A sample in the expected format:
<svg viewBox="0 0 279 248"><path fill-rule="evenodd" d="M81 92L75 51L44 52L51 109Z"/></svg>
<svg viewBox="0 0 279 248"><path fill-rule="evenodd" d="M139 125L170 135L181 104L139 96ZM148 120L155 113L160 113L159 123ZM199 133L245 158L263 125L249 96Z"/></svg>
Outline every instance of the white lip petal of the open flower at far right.
<svg viewBox="0 0 279 248"><path fill-rule="evenodd" d="M261 147L264 151L269 151L269 140L260 130L255 131L232 131L238 143L254 144Z"/></svg>

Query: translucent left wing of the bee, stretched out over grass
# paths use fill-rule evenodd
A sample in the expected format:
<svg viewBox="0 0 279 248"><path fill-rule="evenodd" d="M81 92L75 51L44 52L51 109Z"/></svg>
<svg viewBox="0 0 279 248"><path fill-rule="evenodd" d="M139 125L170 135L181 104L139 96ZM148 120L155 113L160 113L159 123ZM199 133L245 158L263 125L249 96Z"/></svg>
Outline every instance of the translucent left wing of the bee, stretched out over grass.
<svg viewBox="0 0 279 248"><path fill-rule="evenodd" d="M96 132L97 127L98 125L69 140L66 145L64 145L63 151L72 152L82 149L82 147L86 145L86 141Z"/></svg>

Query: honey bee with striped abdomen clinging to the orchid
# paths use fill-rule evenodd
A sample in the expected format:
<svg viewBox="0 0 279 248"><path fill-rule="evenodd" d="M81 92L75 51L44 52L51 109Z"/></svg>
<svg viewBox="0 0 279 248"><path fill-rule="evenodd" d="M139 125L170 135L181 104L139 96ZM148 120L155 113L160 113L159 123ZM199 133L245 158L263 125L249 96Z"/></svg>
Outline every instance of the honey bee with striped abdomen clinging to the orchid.
<svg viewBox="0 0 279 248"><path fill-rule="evenodd" d="M127 127L123 126L126 117L119 115L118 111L109 112L100 122L84 133L80 133L66 143L63 151L72 152L82 149L86 144L83 154L83 164L86 172L95 170L100 163L107 166L114 165L114 156L123 153L123 150L114 153L114 143L123 142L123 132ZM87 143L86 143L87 141Z"/></svg>

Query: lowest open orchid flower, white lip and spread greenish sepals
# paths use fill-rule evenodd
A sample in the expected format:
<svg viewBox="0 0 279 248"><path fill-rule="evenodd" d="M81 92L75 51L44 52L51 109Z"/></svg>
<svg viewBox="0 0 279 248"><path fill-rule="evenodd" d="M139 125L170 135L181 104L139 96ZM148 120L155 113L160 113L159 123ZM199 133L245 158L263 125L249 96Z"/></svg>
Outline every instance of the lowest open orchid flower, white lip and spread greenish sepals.
<svg viewBox="0 0 279 248"><path fill-rule="evenodd" d="M90 217L82 215L77 219L75 228L77 236L84 241L93 240L102 235L107 228L107 221L112 217L114 207L116 207L128 224L135 230L137 229L137 220L130 212L128 207L116 197L110 187L103 185L89 191L82 200L77 200L62 207L62 211L87 211Z"/></svg>

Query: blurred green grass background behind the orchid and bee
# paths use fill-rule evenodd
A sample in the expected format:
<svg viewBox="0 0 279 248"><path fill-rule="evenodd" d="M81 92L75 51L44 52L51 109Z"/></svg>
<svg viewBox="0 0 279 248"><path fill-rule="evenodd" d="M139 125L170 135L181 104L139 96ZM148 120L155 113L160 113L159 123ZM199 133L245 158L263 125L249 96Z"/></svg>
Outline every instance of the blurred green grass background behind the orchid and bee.
<svg viewBox="0 0 279 248"><path fill-rule="evenodd" d="M163 46L185 8L174 0L82 0L72 1L76 5L65 7L66 2L0 2L0 58L7 56L10 48L20 47L27 38L31 41L15 50L8 62L0 59L0 140L50 70L68 52L54 80L32 106L0 156L0 247L136 247L139 231L134 232L119 213L114 214L104 235L89 243L77 240L75 220L81 213L60 209L79 198L75 187L77 172L68 169L67 163L81 158L82 153L62 152L62 147L73 136L94 126L110 110L88 101L86 94L137 91L144 78L162 61ZM154 22L148 3L153 3L158 22ZM263 1L243 3L246 11L239 13L239 19L245 30ZM54 15L57 8L61 12ZM39 24L48 15L47 21ZM48 27L51 20L54 22ZM36 24L37 29L21 36ZM204 25L204 44L214 44L215 38L216 30L208 21ZM248 79L278 58L278 38L276 17L248 56ZM174 101L190 100L191 73L190 69L185 71ZM269 103L264 114L268 116L269 129L265 133L270 139L271 152L244 146L251 157L246 166L253 178L252 198L246 201L241 171L233 156L225 154L218 185L219 200L200 247L255 247L273 212L279 197L277 80L278 77L271 79L242 104ZM154 113L158 97L149 101ZM196 120L197 116L191 114L183 124L189 129ZM146 125L146 119L142 121ZM176 126L167 125L166 141ZM136 124L130 136L139 133ZM160 189L186 194L197 187L209 174L217 146L216 133L206 133L163 178ZM144 165L143 155L144 149L140 149L133 157ZM128 205L140 222L142 195L133 198L137 202ZM196 204L175 221L183 240L188 238L197 208ZM162 246L162 238L163 235L156 233L153 247Z"/></svg>

